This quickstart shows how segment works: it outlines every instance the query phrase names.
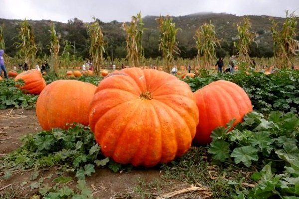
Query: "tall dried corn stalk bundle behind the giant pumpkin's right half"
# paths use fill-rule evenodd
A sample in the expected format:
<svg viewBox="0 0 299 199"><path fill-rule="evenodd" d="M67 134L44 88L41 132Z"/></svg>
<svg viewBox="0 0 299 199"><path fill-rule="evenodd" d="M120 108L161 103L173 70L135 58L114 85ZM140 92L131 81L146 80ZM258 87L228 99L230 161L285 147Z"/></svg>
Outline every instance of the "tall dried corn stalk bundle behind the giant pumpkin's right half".
<svg viewBox="0 0 299 199"><path fill-rule="evenodd" d="M176 40L176 34L179 28L175 28L175 23L172 23L172 18L170 16L166 16L165 18L160 16L156 20L160 30L159 51L162 51L164 62L166 62L164 71L169 73L174 61L174 55L180 54L178 42Z"/></svg>

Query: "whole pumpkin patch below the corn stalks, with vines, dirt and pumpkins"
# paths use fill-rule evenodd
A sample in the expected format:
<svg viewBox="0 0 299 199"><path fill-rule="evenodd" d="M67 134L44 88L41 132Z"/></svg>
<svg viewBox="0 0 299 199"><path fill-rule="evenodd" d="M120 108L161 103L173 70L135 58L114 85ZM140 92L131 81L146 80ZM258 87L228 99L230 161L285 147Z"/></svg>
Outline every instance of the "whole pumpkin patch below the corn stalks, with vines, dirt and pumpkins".
<svg viewBox="0 0 299 199"><path fill-rule="evenodd" d="M299 198L298 70L28 74L0 80L3 199Z"/></svg>

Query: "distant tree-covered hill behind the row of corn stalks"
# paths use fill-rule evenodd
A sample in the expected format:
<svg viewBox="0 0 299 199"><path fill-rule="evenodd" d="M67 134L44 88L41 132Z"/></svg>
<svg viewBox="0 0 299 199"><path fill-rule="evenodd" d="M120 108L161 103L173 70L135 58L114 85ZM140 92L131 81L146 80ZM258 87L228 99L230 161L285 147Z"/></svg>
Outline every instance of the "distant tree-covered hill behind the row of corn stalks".
<svg viewBox="0 0 299 199"><path fill-rule="evenodd" d="M143 46L146 57L161 56L158 51L159 32L157 22L155 19L158 16L145 16L143 22L145 24ZM272 53L272 36L270 32L271 21L282 22L284 18L271 16L249 16L252 23L252 31L255 32L255 42L258 46L252 45L253 56L271 56ZM196 30L204 23L211 21L217 32L217 37L222 39L222 50L218 53L231 54L233 51L232 41L237 39L236 23L241 22L243 17L226 13L195 13L186 16L173 17L173 22L181 31L178 32L177 39L181 49L181 57L192 58L196 55L195 40L193 39ZM0 19L0 24L3 26L4 39L6 43L6 52L14 56L16 54L14 42L18 41L18 28L21 20ZM71 41L75 46L72 54L76 56L88 57L88 35L86 32L86 23L74 18L68 23L55 22L50 20L29 20L33 26L36 37L36 43L40 47L39 56L44 54L49 55L49 27L53 22L56 25L56 31L61 34L61 52L63 50L64 40ZM114 51L114 57L125 57L125 32L122 30L122 23L118 21L111 21L109 23L100 23L105 37L108 41L106 56L110 55L111 49ZM266 54L265 54L266 53ZM256 55L257 54L257 55Z"/></svg>

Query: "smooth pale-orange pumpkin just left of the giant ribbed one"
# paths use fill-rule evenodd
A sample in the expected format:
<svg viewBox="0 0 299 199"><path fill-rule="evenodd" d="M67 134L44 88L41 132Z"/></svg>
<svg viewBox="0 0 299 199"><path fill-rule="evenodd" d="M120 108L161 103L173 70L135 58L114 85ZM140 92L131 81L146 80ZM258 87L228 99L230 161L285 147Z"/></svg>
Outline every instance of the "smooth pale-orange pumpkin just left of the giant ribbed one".
<svg viewBox="0 0 299 199"><path fill-rule="evenodd" d="M88 107L96 86L78 80L57 80L47 85L36 102L36 114L44 130L88 125Z"/></svg>

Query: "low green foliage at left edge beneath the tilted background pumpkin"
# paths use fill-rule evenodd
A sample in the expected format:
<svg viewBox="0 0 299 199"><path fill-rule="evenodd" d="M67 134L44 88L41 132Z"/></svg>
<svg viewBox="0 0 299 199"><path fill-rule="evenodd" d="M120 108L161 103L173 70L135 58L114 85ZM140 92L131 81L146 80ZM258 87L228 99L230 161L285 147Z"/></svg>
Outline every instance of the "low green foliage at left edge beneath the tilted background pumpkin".
<svg viewBox="0 0 299 199"><path fill-rule="evenodd" d="M6 108L32 108L35 106L37 96L24 94L14 86L13 79L0 81L0 109Z"/></svg>

